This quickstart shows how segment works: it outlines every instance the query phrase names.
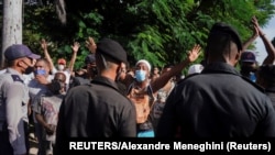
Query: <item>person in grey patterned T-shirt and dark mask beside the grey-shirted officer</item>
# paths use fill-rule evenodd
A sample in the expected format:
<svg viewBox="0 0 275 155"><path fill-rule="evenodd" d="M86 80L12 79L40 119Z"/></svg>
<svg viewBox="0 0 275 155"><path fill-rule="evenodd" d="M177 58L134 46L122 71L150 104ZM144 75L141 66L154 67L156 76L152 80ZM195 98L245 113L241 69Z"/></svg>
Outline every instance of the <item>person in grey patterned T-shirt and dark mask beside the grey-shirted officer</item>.
<svg viewBox="0 0 275 155"><path fill-rule="evenodd" d="M53 155L59 107L66 95L66 75L56 73L48 87L51 91L40 97L33 108L37 122L43 126L43 155Z"/></svg>

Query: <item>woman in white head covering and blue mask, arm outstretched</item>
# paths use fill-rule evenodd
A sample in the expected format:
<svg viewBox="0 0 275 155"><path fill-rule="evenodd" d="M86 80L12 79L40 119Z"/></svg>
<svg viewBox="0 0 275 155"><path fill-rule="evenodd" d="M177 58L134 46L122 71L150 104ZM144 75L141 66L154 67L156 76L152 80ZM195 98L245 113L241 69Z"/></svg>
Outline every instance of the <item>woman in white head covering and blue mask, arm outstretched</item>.
<svg viewBox="0 0 275 155"><path fill-rule="evenodd" d="M175 65L169 71L162 74L155 80L151 80L151 65L146 59L135 64L134 81L128 88L128 98L132 100L136 109L138 137L154 137L154 128L151 109L155 101L156 92L163 88L172 77L182 73L200 54L200 45L195 45L186 59Z"/></svg>

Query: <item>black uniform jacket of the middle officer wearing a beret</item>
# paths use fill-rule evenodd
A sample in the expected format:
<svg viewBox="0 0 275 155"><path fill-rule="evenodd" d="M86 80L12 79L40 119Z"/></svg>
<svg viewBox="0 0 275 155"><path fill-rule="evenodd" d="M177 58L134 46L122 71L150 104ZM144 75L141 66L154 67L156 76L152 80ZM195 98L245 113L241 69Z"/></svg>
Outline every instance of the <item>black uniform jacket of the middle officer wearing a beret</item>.
<svg viewBox="0 0 275 155"><path fill-rule="evenodd" d="M114 81L96 77L91 85L72 88L63 100L56 143L65 137L133 137L134 104Z"/></svg>

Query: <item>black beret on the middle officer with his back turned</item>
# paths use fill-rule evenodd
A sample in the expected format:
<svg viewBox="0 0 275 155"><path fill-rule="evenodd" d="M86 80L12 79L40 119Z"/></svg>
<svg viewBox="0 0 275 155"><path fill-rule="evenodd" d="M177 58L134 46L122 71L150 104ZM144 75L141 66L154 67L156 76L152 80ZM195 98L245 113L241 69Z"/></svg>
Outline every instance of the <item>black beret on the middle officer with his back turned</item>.
<svg viewBox="0 0 275 155"><path fill-rule="evenodd" d="M128 63L127 52L124 48L111 38L102 38L97 43L97 53L101 53L103 55L110 56L111 58Z"/></svg>

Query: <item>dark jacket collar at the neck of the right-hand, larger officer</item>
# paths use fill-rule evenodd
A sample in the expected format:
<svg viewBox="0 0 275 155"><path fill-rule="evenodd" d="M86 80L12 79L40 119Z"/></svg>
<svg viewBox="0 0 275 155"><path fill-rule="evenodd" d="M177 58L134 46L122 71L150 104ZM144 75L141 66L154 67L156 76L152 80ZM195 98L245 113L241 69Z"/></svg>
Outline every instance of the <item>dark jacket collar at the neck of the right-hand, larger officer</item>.
<svg viewBox="0 0 275 155"><path fill-rule="evenodd" d="M241 76L240 73L231 65L227 63L211 63L205 67L201 74L208 73L223 73L223 74L233 74L237 76Z"/></svg>

